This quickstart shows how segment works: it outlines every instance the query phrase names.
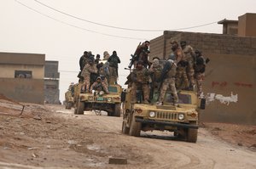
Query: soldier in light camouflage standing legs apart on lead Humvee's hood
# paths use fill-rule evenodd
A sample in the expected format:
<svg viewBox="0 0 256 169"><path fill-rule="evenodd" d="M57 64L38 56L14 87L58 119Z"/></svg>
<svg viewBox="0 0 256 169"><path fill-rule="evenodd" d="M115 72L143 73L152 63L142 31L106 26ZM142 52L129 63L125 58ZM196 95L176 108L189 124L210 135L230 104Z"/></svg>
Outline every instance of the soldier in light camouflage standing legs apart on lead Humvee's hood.
<svg viewBox="0 0 256 169"><path fill-rule="evenodd" d="M175 75L176 75L177 65L172 59L168 59L164 69L161 72L160 80L162 81L160 97L157 104L162 105L165 99L166 90L170 87L173 95L173 105L177 106L177 90L175 87Z"/></svg>

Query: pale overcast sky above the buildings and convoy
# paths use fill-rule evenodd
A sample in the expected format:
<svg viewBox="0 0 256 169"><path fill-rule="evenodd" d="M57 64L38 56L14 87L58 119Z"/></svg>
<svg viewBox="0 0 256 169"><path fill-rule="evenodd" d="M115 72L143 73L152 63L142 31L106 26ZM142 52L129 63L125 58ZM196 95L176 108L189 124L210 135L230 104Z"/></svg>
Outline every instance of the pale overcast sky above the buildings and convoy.
<svg viewBox="0 0 256 169"><path fill-rule="evenodd" d="M101 57L116 50L123 85L139 42L162 30L222 33L219 20L246 13L256 13L255 0L0 0L0 51L58 60L63 101L85 50Z"/></svg>

